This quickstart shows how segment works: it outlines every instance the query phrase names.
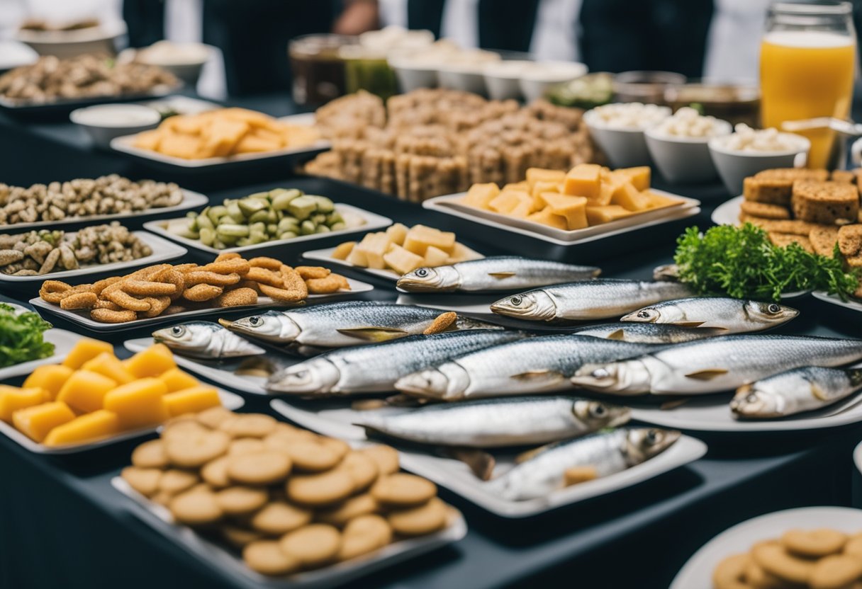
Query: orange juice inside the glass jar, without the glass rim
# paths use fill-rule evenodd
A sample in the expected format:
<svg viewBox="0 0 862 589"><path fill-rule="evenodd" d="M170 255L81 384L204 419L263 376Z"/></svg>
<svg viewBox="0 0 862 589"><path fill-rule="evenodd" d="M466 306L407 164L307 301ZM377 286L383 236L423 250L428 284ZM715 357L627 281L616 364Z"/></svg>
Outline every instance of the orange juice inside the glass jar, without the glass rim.
<svg viewBox="0 0 862 589"><path fill-rule="evenodd" d="M856 44L828 31L772 31L760 45L763 127L818 116L846 119L853 100ZM828 164L834 131L800 133L811 140L809 168Z"/></svg>

